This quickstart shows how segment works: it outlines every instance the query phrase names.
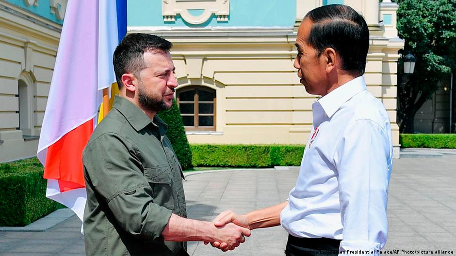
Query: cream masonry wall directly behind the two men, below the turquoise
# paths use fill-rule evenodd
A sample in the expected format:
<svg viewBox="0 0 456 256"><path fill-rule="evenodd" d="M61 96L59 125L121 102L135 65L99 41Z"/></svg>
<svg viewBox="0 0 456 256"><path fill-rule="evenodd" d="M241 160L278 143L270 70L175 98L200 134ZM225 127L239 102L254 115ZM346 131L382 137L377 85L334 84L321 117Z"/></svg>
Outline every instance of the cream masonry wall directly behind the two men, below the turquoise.
<svg viewBox="0 0 456 256"><path fill-rule="evenodd" d="M305 144L311 132L311 104L318 97L305 91L293 67L295 31L307 12L325 2L296 0L293 27L170 29L129 24L128 30L160 35L173 42L172 55L179 78L177 98L184 124L188 120L190 143ZM187 4L189 9L194 8ZM364 78L368 90L383 102L390 115L398 157L397 52L404 46L397 37L398 6L378 0L345 0L344 4L362 13L369 25L370 49ZM229 15L236 11L230 8ZM381 21L383 17L387 22ZM203 103L197 102L198 88L212 96ZM189 90L195 99L189 98ZM212 102L213 111L203 106ZM205 109L203 114L198 108ZM207 113L213 115L213 123L196 125L198 120L207 119Z"/></svg>

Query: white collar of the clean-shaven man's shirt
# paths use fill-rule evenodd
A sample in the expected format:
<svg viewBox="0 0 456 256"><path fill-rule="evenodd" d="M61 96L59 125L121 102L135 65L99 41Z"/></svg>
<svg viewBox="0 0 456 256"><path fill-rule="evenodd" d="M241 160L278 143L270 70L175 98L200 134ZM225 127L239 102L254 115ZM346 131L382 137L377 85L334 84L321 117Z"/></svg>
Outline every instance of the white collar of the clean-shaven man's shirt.
<svg viewBox="0 0 456 256"><path fill-rule="evenodd" d="M358 76L318 99L318 101L312 105L312 108L315 107L315 104L321 105L328 118L330 118L342 104L363 90L366 90L364 77Z"/></svg>

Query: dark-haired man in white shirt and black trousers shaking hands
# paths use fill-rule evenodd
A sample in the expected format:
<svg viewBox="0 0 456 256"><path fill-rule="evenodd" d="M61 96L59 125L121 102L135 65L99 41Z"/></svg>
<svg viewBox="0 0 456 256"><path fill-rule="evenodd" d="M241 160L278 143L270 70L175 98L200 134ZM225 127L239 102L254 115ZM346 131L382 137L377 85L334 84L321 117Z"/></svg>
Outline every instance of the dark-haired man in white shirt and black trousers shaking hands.
<svg viewBox="0 0 456 256"><path fill-rule="evenodd" d="M313 132L296 186L281 204L244 215L224 211L214 224L282 225L290 234L287 256L379 255L388 236L392 143L389 116L362 77L366 21L345 5L316 8L304 17L295 45L300 82L323 96L312 105Z"/></svg>

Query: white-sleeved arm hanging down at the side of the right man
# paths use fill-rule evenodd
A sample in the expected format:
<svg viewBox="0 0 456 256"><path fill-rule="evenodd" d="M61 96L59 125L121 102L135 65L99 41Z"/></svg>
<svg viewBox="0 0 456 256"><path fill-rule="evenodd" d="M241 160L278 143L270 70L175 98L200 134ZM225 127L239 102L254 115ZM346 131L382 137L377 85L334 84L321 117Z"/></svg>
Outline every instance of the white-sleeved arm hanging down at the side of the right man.
<svg viewBox="0 0 456 256"><path fill-rule="evenodd" d="M387 240L390 138L389 123L356 120L346 127L336 149L343 226L340 250L345 255L350 251L378 255Z"/></svg>

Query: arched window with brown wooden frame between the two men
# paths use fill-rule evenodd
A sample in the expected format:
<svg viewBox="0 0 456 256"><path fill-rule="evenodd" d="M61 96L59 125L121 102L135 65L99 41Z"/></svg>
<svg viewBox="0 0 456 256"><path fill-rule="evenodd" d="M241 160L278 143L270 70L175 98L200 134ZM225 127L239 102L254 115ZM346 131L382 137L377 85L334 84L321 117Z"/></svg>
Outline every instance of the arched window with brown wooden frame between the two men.
<svg viewBox="0 0 456 256"><path fill-rule="evenodd" d="M186 131L215 131L215 90L192 86L176 94Z"/></svg>

